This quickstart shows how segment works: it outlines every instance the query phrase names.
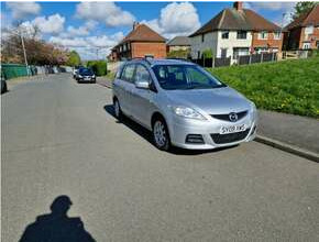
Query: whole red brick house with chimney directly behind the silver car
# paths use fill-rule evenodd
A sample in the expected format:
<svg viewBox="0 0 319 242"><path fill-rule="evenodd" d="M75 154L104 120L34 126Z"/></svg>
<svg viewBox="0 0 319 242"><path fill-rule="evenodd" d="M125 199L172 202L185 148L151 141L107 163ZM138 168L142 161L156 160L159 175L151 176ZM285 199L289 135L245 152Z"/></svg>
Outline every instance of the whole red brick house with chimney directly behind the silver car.
<svg viewBox="0 0 319 242"><path fill-rule="evenodd" d="M133 30L111 50L110 59L152 56L166 57L166 40L145 24L134 23Z"/></svg>

